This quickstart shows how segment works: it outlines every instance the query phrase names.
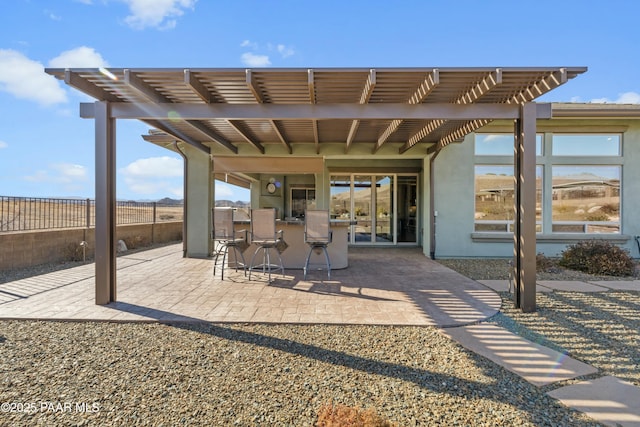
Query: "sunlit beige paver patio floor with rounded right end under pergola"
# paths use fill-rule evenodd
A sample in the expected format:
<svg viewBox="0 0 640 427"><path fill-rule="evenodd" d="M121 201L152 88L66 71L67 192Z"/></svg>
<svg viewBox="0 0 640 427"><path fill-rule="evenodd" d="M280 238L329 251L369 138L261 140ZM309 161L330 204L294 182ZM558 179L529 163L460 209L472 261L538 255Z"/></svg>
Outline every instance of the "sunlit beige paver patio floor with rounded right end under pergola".
<svg viewBox="0 0 640 427"><path fill-rule="evenodd" d="M210 259L182 257L170 245L117 258L117 302L95 304L95 265L0 284L3 319L207 321L431 325L450 327L498 312L490 288L425 257L419 248L351 248L349 267L241 271L212 276Z"/></svg>

